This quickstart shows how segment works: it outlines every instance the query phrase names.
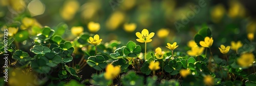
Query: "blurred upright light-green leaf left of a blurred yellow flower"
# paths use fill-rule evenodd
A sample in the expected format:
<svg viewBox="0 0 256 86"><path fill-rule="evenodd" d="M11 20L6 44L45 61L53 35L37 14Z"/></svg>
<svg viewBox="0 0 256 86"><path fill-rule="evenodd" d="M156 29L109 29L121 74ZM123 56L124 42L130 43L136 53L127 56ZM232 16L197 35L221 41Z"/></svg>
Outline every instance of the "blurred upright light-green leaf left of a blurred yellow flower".
<svg viewBox="0 0 256 86"><path fill-rule="evenodd" d="M68 29L68 25L65 23L59 23L55 28L55 34L54 35L62 35L65 33L65 31Z"/></svg>

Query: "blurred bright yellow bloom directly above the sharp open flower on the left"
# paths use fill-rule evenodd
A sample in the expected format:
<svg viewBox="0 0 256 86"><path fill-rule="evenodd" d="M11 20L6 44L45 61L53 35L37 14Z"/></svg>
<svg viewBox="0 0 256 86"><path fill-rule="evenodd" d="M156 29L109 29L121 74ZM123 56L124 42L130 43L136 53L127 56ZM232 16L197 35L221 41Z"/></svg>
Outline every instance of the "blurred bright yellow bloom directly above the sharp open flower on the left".
<svg viewBox="0 0 256 86"><path fill-rule="evenodd" d="M90 32L96 33L99 31L100 25L99 25L99 23L89 22L88 29Z"/></svg>

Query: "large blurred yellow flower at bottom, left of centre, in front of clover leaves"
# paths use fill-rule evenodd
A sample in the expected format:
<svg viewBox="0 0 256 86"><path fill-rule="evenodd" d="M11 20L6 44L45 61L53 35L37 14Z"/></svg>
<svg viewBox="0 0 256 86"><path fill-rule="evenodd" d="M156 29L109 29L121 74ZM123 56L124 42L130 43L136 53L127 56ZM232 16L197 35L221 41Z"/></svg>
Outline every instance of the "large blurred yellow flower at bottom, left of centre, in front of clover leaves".
<svg viewBox="0 0 256 86"><path fill-rule="evenodd" d="M106 73L104 74L104 77L107 80L114 79L119 75L120 72L121 69L118 66L114 67L113 65L109 64L106 66Z"/></svg>

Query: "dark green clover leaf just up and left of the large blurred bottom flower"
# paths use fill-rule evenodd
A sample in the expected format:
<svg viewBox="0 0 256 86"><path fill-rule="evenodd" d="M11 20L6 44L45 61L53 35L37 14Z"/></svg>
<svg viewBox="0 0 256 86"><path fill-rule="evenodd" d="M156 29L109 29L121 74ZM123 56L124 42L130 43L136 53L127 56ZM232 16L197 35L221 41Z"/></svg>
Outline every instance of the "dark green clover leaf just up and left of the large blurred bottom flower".
<svg viewBox="0 0 256 86"><path fill-rule="evenodd" d="M87 63L90 67L93 67L98 71L101 71L107 65L105 58L102 55L90 56L87 60Z"/></svg>

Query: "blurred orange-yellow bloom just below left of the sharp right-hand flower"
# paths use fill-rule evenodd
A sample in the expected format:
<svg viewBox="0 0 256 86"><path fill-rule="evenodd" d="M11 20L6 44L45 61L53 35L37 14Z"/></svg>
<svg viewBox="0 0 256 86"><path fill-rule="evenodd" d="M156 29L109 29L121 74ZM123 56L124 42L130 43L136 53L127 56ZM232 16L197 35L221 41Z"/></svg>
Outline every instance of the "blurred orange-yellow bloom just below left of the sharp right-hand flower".
<svg viewBox="0 0 256 86"><path fill-rule="evenodd" d="M204 52L204 47L193 47L191 50L187 51L187 54L190 56L198 56Z"/></svg>

